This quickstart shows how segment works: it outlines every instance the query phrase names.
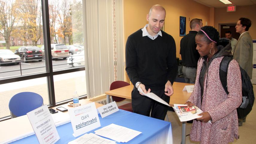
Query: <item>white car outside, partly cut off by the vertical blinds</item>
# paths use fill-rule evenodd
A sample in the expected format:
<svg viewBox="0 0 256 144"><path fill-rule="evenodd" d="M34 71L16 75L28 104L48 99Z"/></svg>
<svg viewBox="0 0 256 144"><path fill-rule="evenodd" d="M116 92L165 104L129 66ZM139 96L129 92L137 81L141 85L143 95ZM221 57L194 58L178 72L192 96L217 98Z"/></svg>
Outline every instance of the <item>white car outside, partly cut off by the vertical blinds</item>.
<svg viewBox="0 0 256 144"><path fill-rule="evenodd" d="M73 54L68 57L67 64L70 66L84 66L84 50L78 54Z"/></svg>

